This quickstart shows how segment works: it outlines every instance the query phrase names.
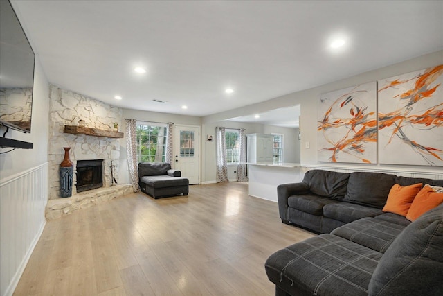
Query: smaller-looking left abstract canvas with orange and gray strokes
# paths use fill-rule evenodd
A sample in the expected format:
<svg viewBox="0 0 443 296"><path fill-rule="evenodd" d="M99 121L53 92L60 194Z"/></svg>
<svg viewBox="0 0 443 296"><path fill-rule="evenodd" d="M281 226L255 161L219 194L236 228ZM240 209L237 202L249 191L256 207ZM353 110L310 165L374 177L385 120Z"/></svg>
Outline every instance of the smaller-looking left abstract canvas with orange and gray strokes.
<svg viewBox="0 0 443 296"><path fill-rule="evenodd" d="M320 96L318 161L377 163L377 85L365 83Z"/></svg>

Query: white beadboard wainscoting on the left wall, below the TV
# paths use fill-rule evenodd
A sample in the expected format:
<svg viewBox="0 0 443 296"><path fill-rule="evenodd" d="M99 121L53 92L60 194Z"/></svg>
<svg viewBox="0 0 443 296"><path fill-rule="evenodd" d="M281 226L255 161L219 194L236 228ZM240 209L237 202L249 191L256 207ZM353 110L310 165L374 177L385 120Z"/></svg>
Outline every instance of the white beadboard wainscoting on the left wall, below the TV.
<svg viewBox="0 0 443 296"><path fill-rule="evenodd" d="M0 294L14 293L46 220L48 163L0 180Z"/></svg>

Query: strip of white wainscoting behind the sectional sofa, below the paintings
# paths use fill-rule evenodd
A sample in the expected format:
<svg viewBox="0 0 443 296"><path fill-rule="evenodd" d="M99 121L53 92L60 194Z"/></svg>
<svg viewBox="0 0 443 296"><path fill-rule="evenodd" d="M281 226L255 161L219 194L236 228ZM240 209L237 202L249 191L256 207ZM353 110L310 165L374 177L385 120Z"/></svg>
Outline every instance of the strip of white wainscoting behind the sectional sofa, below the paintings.
<svg viewBox="0 0 443 296"><path fill-rule="evenodd" d="M429 170L426 169L416 169L416 168L395 168L395 167L380 167L380 166L337 166L337 165L322 165L322 164L311 164L304 165L304 171L309 171L312 169L327 170L341 173L352 173L352 172L376 172L376 173L386 173L403 177L422 177L428 179L443 179L443 169L432 167Z"/></svg>

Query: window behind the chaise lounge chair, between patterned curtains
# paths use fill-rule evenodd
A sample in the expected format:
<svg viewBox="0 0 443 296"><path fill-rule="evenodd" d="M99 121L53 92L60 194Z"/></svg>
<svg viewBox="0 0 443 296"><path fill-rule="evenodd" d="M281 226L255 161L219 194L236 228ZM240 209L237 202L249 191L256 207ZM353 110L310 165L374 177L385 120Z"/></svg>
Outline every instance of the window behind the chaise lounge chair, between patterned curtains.
<svg viewBox="0 0 443 296"><path fill-rule="evenodd" d="M166 124L137 123L137 162L164 162L168 128Z"/></svg>

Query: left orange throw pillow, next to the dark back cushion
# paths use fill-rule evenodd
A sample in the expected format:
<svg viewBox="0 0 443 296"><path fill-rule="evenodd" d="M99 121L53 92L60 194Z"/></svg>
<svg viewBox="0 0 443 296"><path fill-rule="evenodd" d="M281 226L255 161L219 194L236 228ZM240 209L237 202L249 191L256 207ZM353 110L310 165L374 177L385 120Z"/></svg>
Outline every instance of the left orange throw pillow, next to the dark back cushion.
<svg viewBox="0 0 443 296"><path fill-rule="evenodd" d="M383 211L389 211L390 213L399 214L406 217L415 195L419 193L422 186L422 183L409 186L394 184L389 191L388 200L383 207Z"/></svg>

